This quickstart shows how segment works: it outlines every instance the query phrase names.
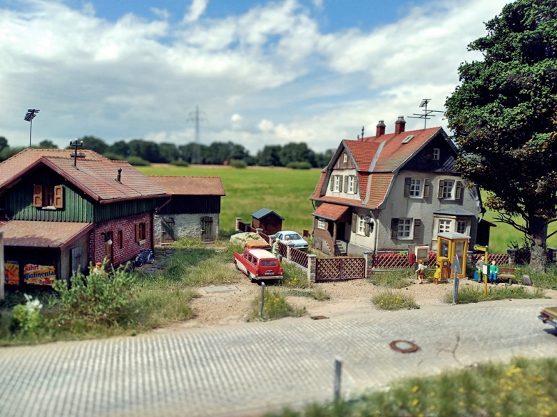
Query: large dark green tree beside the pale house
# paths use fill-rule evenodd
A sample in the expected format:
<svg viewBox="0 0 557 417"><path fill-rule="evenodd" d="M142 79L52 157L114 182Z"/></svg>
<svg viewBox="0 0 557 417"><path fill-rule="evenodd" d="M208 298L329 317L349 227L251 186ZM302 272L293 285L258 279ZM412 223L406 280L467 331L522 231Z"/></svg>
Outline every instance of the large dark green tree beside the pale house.
<svg viewBox="0 0 557 417"><path fill-rule="evenodd" d="M540 272L557 220L557 2L509 3L486 28L469 44L483 59L460 65L446 101L457 168L487 190L499 221L528 236Z"/></svg>

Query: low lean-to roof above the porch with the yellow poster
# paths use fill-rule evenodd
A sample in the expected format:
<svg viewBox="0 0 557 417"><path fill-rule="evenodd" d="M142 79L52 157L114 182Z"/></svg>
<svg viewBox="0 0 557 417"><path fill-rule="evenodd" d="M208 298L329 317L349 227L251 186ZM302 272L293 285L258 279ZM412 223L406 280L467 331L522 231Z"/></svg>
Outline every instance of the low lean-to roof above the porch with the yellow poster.
<svg viewBox="0 0 557 417"><path fill-rule="evenodd" d="M65 249L93 229L93 223L12 220L0 226L4 245Z"/></svg>

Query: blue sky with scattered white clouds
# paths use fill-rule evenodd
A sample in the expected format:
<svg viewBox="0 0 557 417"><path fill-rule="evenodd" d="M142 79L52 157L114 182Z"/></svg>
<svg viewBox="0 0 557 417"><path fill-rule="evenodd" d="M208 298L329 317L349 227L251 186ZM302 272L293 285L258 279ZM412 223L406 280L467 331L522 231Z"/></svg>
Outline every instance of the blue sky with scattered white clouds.
<svg viewBox="0 0 557 417"><path fill-rule="evenodd" d="M0 0L0 136L315 152L423 129L510 0ZM32 124L24 117L39 109ZM446 127L432 113L427 127ZM196 129L198 126L198 129Z"/></svg>

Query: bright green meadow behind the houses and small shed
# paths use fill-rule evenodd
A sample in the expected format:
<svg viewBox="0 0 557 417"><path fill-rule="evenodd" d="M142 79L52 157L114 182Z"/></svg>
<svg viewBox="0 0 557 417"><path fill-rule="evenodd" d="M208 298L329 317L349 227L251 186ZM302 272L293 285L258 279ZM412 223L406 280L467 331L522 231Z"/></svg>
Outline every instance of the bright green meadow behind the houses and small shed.
<svg viewBox="0 0 557 417"><path fill-rule="evenodd" d="M226 197L221 199L221 231L234 231L235 218L251 222L251 213L266 207L285 218L283 229L301 232L313 227L313 206L308 197L315 190L320 170L290 170L283 167L247 167L191 165L175 167L157 165L138 167L148 175L189 175L221 177ZM483 193L485 201L485 193ZM494 222L496 213L488 211L485 220ZM489 238L492 253L505 253L511 241L522 242L523 235L509 224L496 223ZM553 229L550 229L553 230ZM548 247L557 247L557 235L547 241Z"/></svg>

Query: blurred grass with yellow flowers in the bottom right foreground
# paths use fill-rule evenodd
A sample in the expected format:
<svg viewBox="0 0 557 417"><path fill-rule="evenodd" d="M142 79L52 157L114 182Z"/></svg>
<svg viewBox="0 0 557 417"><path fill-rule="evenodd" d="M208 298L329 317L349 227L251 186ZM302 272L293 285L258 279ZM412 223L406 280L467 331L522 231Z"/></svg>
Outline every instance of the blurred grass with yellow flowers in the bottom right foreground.
<svg viewBox="0 0 557 417"><path fill-rule="evenodd" d="M387 391L267 417L557 416L557 359L513 359L411 378Z"/></svg>

